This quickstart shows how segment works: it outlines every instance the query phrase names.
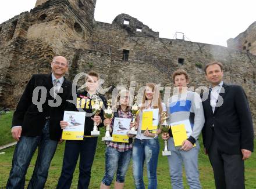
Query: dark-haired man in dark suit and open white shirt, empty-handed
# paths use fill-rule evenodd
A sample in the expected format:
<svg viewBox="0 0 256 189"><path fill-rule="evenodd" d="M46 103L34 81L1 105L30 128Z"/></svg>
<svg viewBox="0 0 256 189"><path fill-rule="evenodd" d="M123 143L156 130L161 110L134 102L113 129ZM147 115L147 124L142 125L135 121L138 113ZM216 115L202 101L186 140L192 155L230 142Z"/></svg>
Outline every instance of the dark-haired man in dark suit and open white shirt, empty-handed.
<svg viewBox="0 0 256 189"><path fill-rule="evenodd" d="M222 68L218 61L205 66L211 87L207 100L202 102L202 138L216 188L240 189L244 188L244 160L254 148L253 121L243 88L223 83Z"/></svg>

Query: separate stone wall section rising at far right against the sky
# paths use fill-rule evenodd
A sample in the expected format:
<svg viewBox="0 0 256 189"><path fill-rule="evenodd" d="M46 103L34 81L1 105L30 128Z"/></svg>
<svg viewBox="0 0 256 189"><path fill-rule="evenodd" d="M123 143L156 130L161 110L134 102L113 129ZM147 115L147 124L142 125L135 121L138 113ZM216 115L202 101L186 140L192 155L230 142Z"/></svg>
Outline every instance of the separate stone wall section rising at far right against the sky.
<svg viewBox="0 0 256 189"><path fill-rule="evenodd" d="M227 40L227 47L256 55L256 21L236 38Z"/></svg>

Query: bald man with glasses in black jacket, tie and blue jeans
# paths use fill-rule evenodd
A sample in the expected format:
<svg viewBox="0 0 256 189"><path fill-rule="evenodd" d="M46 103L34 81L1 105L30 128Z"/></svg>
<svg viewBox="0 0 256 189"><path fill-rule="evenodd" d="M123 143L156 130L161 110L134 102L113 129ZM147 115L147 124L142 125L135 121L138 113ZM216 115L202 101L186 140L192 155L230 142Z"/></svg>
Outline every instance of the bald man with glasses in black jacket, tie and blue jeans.
<svg viewBox="0 0 256 189"><path fill-rule="evenodd" d="M6 188L24 188L27 168L37 147L37 161L28 188L44 188L49 165L61 140L59 123L66 100L72 96L72 83L63 77L68 66L65 57L56 56L51 63L51 74L33 75L27 83L13 114L12 136L17 145Z"/></svg>

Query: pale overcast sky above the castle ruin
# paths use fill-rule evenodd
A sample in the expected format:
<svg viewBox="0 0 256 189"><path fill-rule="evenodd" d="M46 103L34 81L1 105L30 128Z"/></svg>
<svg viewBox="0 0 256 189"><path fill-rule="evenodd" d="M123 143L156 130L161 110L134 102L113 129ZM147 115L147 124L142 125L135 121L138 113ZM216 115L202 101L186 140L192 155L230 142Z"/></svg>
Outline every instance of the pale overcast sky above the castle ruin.
<svg viewBox="0 0 256 189"><path fill-rule="evenodd" d="M34 8L36 0L0 2L0 23ZM162 38L226 46L256 21L255 0L97 0L95 20L111 23L120 13L136 17Z"/></svg>

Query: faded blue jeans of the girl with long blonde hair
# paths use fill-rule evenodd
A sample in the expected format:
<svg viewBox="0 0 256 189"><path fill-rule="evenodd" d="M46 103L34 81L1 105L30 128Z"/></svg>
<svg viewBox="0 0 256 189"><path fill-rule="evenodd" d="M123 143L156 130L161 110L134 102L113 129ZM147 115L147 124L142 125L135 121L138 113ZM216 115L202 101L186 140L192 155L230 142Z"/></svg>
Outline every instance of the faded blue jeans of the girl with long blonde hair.
<svg viewBox="0 0 256 189"><path fill-rule="evenodd" d="M158 139L135 139L133 144L133 177L137 189L144 189L143 167L147 163L148 188L157 188Z"/></svg>

